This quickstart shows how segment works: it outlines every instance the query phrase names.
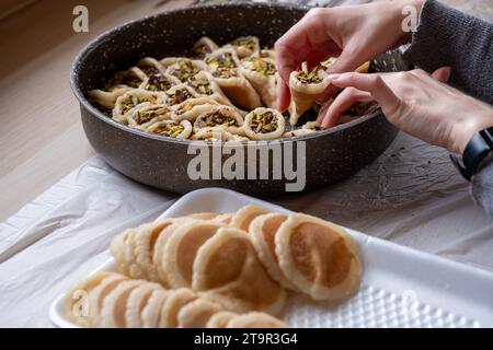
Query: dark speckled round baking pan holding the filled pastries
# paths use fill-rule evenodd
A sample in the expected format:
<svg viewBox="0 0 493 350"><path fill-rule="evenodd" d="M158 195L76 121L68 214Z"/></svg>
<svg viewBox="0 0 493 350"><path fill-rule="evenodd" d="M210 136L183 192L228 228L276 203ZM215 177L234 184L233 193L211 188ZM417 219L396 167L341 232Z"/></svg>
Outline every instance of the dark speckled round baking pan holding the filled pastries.
<svg viewBox="0 0 493 350"><path fill-rule="evenodd" d="M91 105L87 93L101 86L111 73L135 65L145 56L182 55L203 35L219 44L242 35L256 35L263 45L273 45L306 11L301 7L263 3L193 7L134 21L95 38L74 59L70 75L92 147L126 176L173 192L211 186L262 197L284 192L286 183L294 180L284 172L280 178L274 179L272 160L268 166L263 165L268 168L268 178L215 179L213 174L209 178L191 178L187 166L195 154L187 152L190 141L127 128ZM390 52L375 60L374 69L398 71L409 69L409 65L398 52ZM313 189L355 174L378 158L397 132L383 115L376 112L328 131L280 141L280 144L294 142L297 149L299 142L305 142L303 188ZM254 144L245 144L245 151L251 147ZM228 156L222 155L222 161Z"/></svg>

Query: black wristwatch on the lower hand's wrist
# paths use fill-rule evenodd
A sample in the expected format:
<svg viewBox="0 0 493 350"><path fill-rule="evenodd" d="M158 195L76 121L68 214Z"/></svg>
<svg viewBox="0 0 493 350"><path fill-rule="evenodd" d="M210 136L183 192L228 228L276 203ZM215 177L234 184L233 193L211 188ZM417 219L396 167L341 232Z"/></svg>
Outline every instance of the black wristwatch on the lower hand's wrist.
<svg viewBox="0 0 493 350"><path fill-rule="evenodd" d="M493 154L493 127L474 133L463 151L462 160L452 154L450 154L450 160L460 174L470 182L490 154Z"/></svg>

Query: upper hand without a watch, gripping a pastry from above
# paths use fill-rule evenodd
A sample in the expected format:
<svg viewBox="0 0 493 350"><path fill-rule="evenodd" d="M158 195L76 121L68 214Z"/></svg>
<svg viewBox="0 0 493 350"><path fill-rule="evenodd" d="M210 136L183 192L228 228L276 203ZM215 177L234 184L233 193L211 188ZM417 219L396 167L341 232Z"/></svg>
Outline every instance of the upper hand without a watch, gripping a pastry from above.
<svg viewBox="0 0 493 350"><path fill-rule="evenodd" d="M277 108L289 106L289 74L303 61L318 65L328 57L339 57L329 73L354 71L365 61L411 39L402 28L402 10L413 5L420 13L424 0L381 1L370 4L319 8L310 10L275 44L277 56ZM329 89L319 102L335 92Z"/></svg>

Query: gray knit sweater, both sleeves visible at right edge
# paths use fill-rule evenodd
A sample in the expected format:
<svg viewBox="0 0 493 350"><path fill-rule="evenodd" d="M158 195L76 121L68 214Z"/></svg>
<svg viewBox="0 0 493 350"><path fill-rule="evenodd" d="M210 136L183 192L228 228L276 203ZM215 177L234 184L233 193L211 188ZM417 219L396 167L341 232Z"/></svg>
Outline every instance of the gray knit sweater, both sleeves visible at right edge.
<svg viewBox="0 0 493 350"><path fill-rule="evenodd" d="M427 0L404 57L428 72L451 67L452 86L493 105L492 23ZM493 218L493 161L473 176L471 194Z"/></svg>

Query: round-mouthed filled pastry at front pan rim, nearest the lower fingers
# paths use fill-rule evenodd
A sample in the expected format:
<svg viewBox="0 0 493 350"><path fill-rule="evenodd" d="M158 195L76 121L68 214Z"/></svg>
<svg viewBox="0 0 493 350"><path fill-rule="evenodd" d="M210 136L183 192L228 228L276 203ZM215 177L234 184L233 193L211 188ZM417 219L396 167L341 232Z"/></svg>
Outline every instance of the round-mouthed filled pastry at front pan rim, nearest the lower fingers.
<svg viewBox="0 0 493 350"><path fill-rule="evenodd" d="M244 133L252 140L273 140L283 136L285 120L277 109L256 108L244 117Z"/></svg>

